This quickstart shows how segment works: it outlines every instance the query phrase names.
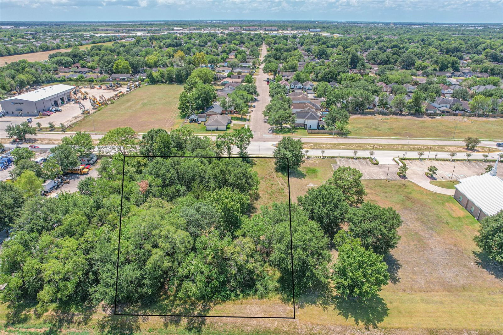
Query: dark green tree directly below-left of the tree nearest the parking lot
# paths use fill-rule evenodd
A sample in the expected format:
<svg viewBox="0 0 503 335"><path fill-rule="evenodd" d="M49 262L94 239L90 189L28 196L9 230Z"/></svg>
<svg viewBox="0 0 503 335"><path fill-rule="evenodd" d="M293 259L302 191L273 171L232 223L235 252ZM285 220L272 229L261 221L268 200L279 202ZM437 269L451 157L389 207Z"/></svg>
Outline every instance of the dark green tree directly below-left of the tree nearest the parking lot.
<svg viewBox="0 0 503 335"><path fill-rule="evenodd" d="M297 201L307 212L309 220L316 221L326 234L332 235L340 229L349 206L342 191L334 185L321 185L307 190Z"/></svg>

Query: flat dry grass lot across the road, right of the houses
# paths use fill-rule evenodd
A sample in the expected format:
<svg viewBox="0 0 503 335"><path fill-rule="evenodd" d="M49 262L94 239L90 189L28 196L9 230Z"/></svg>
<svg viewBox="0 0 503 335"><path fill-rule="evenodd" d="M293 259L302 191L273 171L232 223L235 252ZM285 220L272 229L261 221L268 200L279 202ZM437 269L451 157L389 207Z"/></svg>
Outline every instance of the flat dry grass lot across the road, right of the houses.
<svg viewBox="0 0 503 335"><path fill-rule="evenodd" d="M503 139L500 118L352 116L349 129L349 136Z"/></svg>

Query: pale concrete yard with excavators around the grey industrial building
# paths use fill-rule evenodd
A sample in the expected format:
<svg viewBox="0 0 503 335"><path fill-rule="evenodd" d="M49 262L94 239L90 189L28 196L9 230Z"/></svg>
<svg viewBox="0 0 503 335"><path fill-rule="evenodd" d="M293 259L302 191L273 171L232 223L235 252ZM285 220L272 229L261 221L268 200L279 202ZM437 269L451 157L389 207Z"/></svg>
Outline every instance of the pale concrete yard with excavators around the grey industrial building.
<svg viewBox="0 0 503 335"><path fill-rule="evenodd" d="M103 95L105 99L108 99L111 96L114 96L117 92L123 92L126 93L126 86L122 86L119 90L112 91L112 90L98 90L98 89L81 89L83 92L88 92L89 97L95 96L97 99L100 95ZM80 95L79 95L80 96ZM91 110L91 101L88 99L86 100L81 100L80 101L82 105L86 107L86 109ZM80 108L79 105L73 104L73 103L68 103L63 106L59 106L61 108L61 112L56 112L52 115L49 116L38 116L33 118L33 123L32 125L35 126L37 122L40 122L42 124L42 127L47 127L49 125L49 122L54 123L54 125L59 126L60 123L66 123L72 118L79 116L80 115ZM3 117L0 121L1 122L1 127L2 130L7 127L8 124L13 123L13 124L18 124L23 121L26 121L29 119L28 116L6 116Z"/></svg>

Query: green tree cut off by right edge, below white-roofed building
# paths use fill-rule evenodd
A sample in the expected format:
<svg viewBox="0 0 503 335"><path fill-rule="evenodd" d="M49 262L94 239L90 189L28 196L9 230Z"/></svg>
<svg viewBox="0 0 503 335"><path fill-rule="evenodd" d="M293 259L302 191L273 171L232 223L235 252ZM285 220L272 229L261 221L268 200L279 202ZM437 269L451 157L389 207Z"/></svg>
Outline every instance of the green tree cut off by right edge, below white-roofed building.
<svg viewBox="0 0 503 335"><path fill-rule="evenodd" d="M493 261L503 263L503 211L480 220L477 246Z"/></svg>

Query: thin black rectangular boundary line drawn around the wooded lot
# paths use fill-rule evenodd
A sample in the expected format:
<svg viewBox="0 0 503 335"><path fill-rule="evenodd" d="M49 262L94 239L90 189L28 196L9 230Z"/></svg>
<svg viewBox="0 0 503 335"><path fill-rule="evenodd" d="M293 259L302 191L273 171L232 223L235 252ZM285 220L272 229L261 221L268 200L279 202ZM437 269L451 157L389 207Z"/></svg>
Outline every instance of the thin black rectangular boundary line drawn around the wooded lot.
<svg viewBox="0 0 503 335"><path fill-rule="evenodd" d="M288 177L288 213L290 219L290 262L292 267L292 297L293 297L293 317L292 316L225 316L225 315L180 315L180 314L129 314L117 313L117 289L119 285L119 258L121 250L121 225L122 225L122 201L124 198L124 171L126 168L126 157L145 157L145 158L267 158L267 159L286 159L287 162L287 177ZM115 276L115 301L114 315L121 316L179 316L179 317L235 317L235 318L257 318L257 319L295 319L295 281L293 272L293 238L292 238L292 201L290 199L290 160L288 157L259 157L259 156L231 156L231 157L215 157L215 156L148 156L148 155L124 155L122 158L122 186L121 186L121 209L119 216L119 243L117 246L117 272Z"/></svg>

